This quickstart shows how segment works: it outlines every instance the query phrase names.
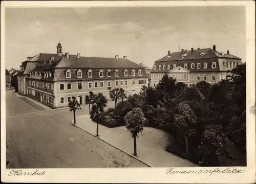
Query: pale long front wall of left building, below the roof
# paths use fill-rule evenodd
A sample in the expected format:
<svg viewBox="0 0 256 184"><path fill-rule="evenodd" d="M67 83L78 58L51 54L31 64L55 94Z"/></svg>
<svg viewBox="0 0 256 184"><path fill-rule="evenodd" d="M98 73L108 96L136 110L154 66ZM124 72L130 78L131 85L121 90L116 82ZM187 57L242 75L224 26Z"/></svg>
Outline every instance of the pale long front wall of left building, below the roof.
<svg viewBox="0 0 256 184"><path fill-rule="evenodd" d="M127 85L125 85L125 80L127 80ZM89 95L89 91L92 91L94 94L102 93L108 100L109 91L114 88L123 88L126 91L126 95L139 94L140 89L143 85L147 85L147 78L136 78L135 84L132 84L132 79L102 79L102 80L83 80L83 81L58 81L54 82L54 105L55 108L68 106L68 97L82 96L82 104L84 104L84 99L86 95ZM146 80L145 84L139 84L139 80ZM108 82L111 82L111 88L108 86ZM116 81L118 85L116 86ZM120 85L120 82L123 82ZM78 82L82 82L82 88L78 89ZM89 88L89 82L92 82L92 88ZM95 82L98 82L98 87L95 87ZM100 82L103 82L103 87L100 87ZM71 89L67 89L68 83L71 83ZM60 84L64 85L64 89L60 90ZM60 98L63 98L63 103L60 103ZM78 99L79 101L79 99Z"/></svg>

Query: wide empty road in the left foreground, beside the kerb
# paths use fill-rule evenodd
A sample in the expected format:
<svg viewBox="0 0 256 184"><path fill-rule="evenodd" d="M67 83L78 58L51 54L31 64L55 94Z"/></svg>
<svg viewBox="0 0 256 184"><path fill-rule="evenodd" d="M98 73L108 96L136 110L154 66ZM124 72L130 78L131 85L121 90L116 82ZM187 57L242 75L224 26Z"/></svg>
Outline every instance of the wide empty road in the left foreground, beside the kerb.
<svg viewBox="0 0 256 184"><path fill-rule="evenodd" d="M7 155L14 168L146 167L71 125L68 109L38 111L6 92L6 103L12 104L6 108Z"/></svg>

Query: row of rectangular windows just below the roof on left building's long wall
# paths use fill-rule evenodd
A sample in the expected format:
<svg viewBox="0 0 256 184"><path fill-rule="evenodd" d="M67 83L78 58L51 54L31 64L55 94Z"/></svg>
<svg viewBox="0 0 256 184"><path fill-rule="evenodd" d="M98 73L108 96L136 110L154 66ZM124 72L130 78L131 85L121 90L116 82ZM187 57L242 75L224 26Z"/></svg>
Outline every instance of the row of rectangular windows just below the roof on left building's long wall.
<svg viewBox="0 0 256 184"><path fill-rule="evenodd" d="M123 80L116 80L115 81L115 86L123 86L124 85L128 85L128 81L127 80L124 80L124 83L123 83ZM138 80L138 84L146 84L146 80L143 79L143 80ZM135 79L132 79L132 85L135 85ZM93 82L88 82L88 88L97 88L97 87L104 87L104 82L103 81L100 81L100 82L94 82L94 85L93 85ZM108 81L108 87L111 87L111 81ZM71 89L71 83L67 83L67 89ZM77 82L77 88L78 89L82 89L82 82ZM65 85L64 84L59 84L59 89L60 90L64 90L65 89Z"/></svg>

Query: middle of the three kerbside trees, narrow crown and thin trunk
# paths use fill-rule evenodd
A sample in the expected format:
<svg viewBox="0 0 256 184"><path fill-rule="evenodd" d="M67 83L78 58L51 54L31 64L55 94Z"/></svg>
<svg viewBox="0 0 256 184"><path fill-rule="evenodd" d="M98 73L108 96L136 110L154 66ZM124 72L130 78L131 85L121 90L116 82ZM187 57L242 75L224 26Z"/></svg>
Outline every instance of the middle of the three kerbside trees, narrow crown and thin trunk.
<svg viewBox="0 0 256 184"><path fill-rule="evenodd" d="M95 104L92 106L92 111L91 111L91 118L93 120L96 120L97 122L97 136L99 136L98 130L99 130L99 122L102 123L103 121L103 111L104 107L106 107L106 103L108 101L106 100L106 97L102 94L99 93L94 100Z"/></svg>

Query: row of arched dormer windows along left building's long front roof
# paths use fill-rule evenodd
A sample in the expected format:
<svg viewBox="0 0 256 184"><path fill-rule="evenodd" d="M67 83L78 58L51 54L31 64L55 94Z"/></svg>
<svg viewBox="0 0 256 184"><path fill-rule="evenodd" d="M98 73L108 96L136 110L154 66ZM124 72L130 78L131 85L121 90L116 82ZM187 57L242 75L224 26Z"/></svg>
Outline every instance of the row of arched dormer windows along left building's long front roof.
<svg viewBox="0 0 256 184"><path fill-rule="evenodd" d="M104 77L104 71L103 70L100 70L98 73L99 73L99 77ZM115 70L114 74L115 74L115 77L118 77L119 76L119 71ZM124 70L123 74L124 74L125 77L127 77L128 76L128 71ZM132 74L132 76L135 76L135 70L132 70L131 74ZM141 74L142 74L141 70L138 70L138 76L141 76ZM92 78L92 76L93 76L92 75L92 70L89 70L87 72L87 77ZM77 71L77 77L82 78L82 71L81 70ZM111 70L106 71L106 77L111 77ZM66 71L66 78L71 78L71 71L70 70Z"/></svg>

